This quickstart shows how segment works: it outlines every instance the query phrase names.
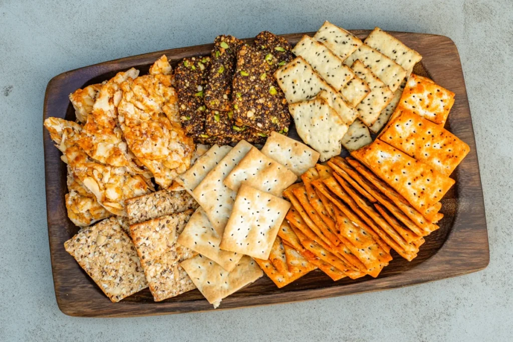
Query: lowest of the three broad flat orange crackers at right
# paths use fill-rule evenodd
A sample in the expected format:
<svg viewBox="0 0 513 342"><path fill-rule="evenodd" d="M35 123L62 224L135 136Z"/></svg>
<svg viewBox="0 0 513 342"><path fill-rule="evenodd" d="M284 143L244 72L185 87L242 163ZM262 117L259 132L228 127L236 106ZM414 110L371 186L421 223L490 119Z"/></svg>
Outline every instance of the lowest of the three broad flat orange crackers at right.
<svg viewBox="0 0 513 342"><path fill-rule="evenodd" d="M351 155L385 180L417 210L425 210L439 202L455 183L380 140L351 152Z"/></svg>

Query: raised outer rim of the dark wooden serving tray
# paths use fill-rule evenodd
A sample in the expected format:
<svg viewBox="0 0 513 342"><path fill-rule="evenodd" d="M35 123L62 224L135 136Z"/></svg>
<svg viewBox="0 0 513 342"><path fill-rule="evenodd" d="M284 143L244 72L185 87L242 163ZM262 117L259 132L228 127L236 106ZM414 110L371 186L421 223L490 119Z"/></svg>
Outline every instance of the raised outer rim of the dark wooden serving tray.
<svg viewBox="0 0 513 342"><path fill-rule="evenodd" d="M370 32L370 30L349 30L353 34L364 36ZM294 301L303 301L310 299L320 299L320 298L328 298L334 296L341 295L349 295L356 293L365 293L365 292L373 292L373 291L382 291L400 287L406 287L411 285L417 285L422 283L428 283L430 281L436 281L444 278L460 276L472 272L476 272L486 268L489 263L489 245L488 245L488 235L487 235L487 225L486 225L486 216L485 216L485 207L484 207L484 197L482 191L481 184L481 176L479 171L479 162L476 152L476 143L475 143L475 135L472 128L472 121L470 115L470 108L468 105L468 98L466 94L466 87L464 84L463 71L461 67L461 60L456 48L455 43L446 36L435 35L435 34L426 34L426 33L411 33L411 32L397 32L397 31L387 31L393 35L395 34L408 34L408 35L419 35L419 36L437 36L439 39L443 39L445 44L453 45L456 49L456 56L452 56L457 60L457 69L456 72L460 73L461 79L463 81L463 90L465 96L459 96L457 100L462 101L460 105L465 107L468 112L468 127L464 127L466 132L466 143L471 147L471 151L465 161L475 163L474 176L477 179L474 179L474 184L470 184L470 188L472 189L472 213L473 215L478 216L480 219L480 223L478 229L473 230L473 234L479 233L479 237L481 239L481 243L478 245L470 245L470 248L466 246L466 249L463 251L458 250L455 246L453 246L458 240L465 240L465 236L471 234L471 230L465 229L466 227L461 227L461 211L465 208L459 208L459 210L455 213L455 219L453 220L453 225L446 237L445 242L440 247L440 249L431 257L424 260L418 266L401 272L395 275L389 275L385 278L377 278L377 279L369 279L366 281L362 281L361 283L355 284L344 284L339 286L333 286L330 288L317 288L317 289L306 289L306 290L297 290L297 291L287 291L281 293L273 293L273 294L259 294L259 295L251 295L246 296L243 299L242 303L239 303L240 299L238 298L230 298L227 297L223 299L222 306L216 310L225 310L232 308L240 308L240 307L252 307L252 306L263 306L263 305L272 305L279 303L291 303ZM299 38L303 34L312 35L314 32L305 32L305 33L292 33L292 34L282 34L281 36L287 39ZM244 39L245 41L252 41L252 38ZM173 59L182 58L185 55L190 55L191 51L195 51L200 48L209 48L212 44L203 44L196 45L191 47L184 48L175 48L168 49L156 52L149 52L140 55L134 55L124 58L113 59L112 61L98 63L82 68L77 68L74 70L66 71L59 75L54 76L47 85L45 100L44 100L44 109L43 109L43 121L48 116L58 114L58 109L54 108L56 106L56 102L58 98L62 98L64 95L67 97L68 94L64 94L63 91L58 92L56 89L60 87L73 87L79 88L82 87L86 82L88 82L93 77L96 77L98 74L102 74L105 72L109 72L111 70L119 70L123 68L128 68L127 65L136 66L137 63L143 62L146 59L152 58L156 59L162 54L171 55L173 54ZM147 64L145 62L144 64ZM76 75L77 73L82 74L82 77L78 79L70 79L73 78L71 76ZM95 75L93 75L95 74ZM84 79L87 80L82 82ZM81 83L82 82L82 83ZM80 84L79 84L80 83ZM58 107L58 106L57 106ZM67 108L67 106L66 106ZM64 111L66 113L66 111ZM57 115L58 116L58 115ZM449 115L450 122L450 115ZM466 123L467 124L467 123ZM55 175L52 174L52 162L55 162L54 158L56 153L52 153L51 149L57 151L53 147L53 142L51 142L48 134L46 134L45 128L43 127L43 140L44 140L44 149L45 149L45 183L46 183L46 201L47 201L47 223L48 223L48 234L49 234L49 247L50 247L50 255L51 255L51 264L52 264L52 276L54 282L54 290L55 297L57 301L57 305L59 309L66 315L70 316L80 316L80 317L132 317L132 316L148 316L148 315L161 315L161 314L172 314L172 313L182 313L182 312L203 312L213 310L212 306L207 303L206 300L189 300L189 301L181 301L181 302L168 302L168 303L135 303L135 302L123 302L120 303L110 303L107 305L101 305L98 307L91 307L86 310L77 311L74 308L73 303L70 303L66 300L66 294L62 293L58 288L59 282L62 280L61 278L64 276L63 274L59 274L57 261L54 260L53 251L55 248L59 248L59 246L55 245L52 241L52 235L57 229L63 229L62 227L57 227L51 219L51 199L55 197L56 194L53 191L49 191L49 180L54 179ZM51 147L49 149L48 147ZM55 152L54 151L54 152ZM60 154L60 153L59 153ZM58 162L60 162L60 158L58 158ZM462 164L463 166L463 164ZM476 171L477 170L477 171ZM54 170L53 170L54 171ZM457 169L456 172L461 172L461 167ZM469 171L470 172L470 171ZM55 173L55 172L53 172ZM465 177L459 177L461 184L458 184L458 190L462 190L462 185L467 185ZM463 188L465 190L465 188ZM468 210L468 209L466 209ZM477 211L477 212L476 212ZM458 217L460 216L460 217ZM484 247L484 248L483 248ZM63 248L60 246L60 248ZM465 264L461 261L465 256L471 256L473 259L471 260L471 264ZM73 260L74 261L74 260ZM443 262L442 262L443 261ZM411 274L413 273L413 274ZM293 298L290 298L290 293L293 293ZM108 299L107 299L108 300ZM188 303L186 308L184 308L183 304ZM92 303L91 303L92 304ZM105 304L105 303L104 303ZM242 305L241 305L242 304ZM108 307L108 309L107 309ZM149 308L151 307L151 308Z"/></svg>

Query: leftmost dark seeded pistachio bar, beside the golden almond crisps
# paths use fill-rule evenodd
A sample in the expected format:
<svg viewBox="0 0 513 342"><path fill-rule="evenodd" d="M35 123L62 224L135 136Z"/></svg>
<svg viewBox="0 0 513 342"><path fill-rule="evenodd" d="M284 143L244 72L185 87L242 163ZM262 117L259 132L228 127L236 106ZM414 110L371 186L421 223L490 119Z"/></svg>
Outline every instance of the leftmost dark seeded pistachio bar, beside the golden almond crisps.
<svg viewBox="0 0 513 342"><path fill-rule="evenodd" d="M205 103L210 57L184 58L174 71L182 128L195 140L204 140Z"/></svg>

